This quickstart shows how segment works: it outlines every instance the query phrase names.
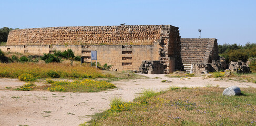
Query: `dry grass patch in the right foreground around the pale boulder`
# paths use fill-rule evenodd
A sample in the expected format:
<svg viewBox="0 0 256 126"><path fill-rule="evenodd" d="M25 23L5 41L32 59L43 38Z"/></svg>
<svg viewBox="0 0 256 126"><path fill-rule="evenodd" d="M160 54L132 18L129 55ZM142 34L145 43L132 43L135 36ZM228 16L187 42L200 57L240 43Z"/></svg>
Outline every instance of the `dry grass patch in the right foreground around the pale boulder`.
<svg viewBox="0 0 256 126"><path fill-rule="evenodd" d="M90 125L255 125L256 89L222 96L222 88L171 88L157 96L121 102L119 110L97 114ZM141 97L145 97L141 96ZM146 101L146 102L145 102ZM125 109L120 109L120 107ZM117 108L117 107L116 107Z"/></svg>

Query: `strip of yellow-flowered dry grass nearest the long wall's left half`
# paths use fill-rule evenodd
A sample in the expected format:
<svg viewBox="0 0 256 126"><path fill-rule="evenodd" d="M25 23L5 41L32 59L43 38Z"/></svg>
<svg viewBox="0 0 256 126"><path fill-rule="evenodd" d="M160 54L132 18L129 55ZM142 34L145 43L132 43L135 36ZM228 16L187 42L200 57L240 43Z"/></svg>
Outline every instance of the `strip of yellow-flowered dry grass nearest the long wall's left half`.
<svg viewBox="0 0 256 126"><path fill-rule="evenodd" d="M0 64L0 77L17 78L22 74L30 74L36 78L97 78L104 77L99 70L79 64L50 63L11 63Z"/></svg>

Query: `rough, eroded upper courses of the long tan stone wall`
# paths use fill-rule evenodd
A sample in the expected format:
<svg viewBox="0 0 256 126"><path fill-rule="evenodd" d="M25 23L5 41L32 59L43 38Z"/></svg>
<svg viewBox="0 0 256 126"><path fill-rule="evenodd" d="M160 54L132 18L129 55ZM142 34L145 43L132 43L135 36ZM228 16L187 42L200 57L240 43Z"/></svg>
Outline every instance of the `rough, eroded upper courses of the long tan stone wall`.
<svg viewBox="0 0 256 126"><path fill-rule="evenodd" d="M162 26L125 25L17 29L9 33L7 45L152 45L161 36ZM168 26L170 27L170 25Z"/></svg>

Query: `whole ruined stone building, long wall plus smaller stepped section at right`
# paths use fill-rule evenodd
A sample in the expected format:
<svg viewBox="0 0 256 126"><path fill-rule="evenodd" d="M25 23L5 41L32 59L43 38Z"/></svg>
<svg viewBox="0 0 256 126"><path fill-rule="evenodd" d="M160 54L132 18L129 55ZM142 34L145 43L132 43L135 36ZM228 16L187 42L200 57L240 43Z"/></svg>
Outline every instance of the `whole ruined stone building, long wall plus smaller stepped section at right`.
<svg viewBox="0 0 256 126"><path fill-rule="evenodd" d="M9 33L7 46L0 49L31 55L72 49L85 61L90 61L91 50L97 50L100 64L112 65L118 71L149 74L170 73L183 70L183 64L186 68L217 60L217 39L181 39L178 29L171 25L17 29Z"/></svg>

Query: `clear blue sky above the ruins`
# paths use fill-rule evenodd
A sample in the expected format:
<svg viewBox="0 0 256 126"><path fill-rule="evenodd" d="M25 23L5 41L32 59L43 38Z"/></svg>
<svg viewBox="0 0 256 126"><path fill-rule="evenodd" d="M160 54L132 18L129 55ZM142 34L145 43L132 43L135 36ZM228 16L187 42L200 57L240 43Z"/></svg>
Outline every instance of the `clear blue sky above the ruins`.
<svg viewBox="0 0 256 126"><path fill-rule="evenodd" d="M256 43L255 0L0 0L0 28L173 25L181 38Z"/></svg>

